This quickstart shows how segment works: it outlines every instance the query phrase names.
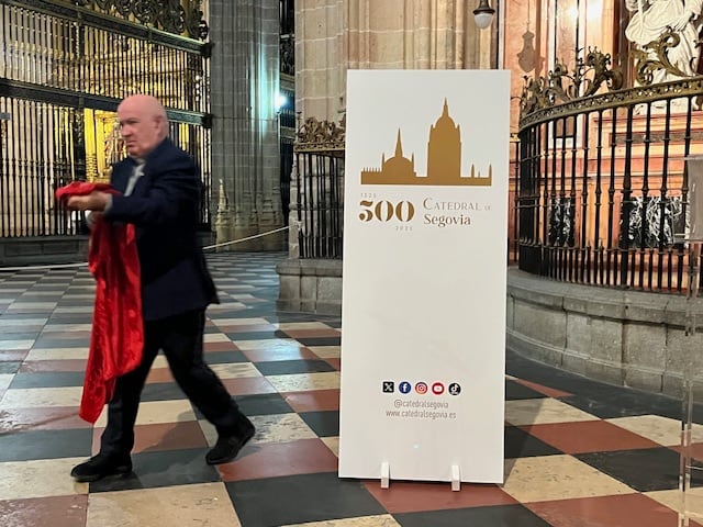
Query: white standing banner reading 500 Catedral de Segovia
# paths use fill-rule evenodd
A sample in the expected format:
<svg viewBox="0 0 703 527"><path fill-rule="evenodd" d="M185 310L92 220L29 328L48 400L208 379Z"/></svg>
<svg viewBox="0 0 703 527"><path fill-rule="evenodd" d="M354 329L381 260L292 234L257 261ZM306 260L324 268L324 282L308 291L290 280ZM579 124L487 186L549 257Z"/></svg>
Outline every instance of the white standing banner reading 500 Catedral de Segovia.
<svg viewBox="0 0 703 527"><path fill-rule="evenodd" d="M500 483L510 72L347 80L339 476Z"/></svg>

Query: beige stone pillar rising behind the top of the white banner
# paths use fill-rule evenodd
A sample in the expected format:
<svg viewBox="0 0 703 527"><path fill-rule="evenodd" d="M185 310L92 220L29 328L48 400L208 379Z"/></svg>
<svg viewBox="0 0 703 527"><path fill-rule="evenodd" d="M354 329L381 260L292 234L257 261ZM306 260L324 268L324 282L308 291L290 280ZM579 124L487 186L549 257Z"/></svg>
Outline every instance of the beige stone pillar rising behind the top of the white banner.
<svg viewBox="0 0 703 527"><path fill-rule="evenodd" d="M295 2L295 108L337 121L347 69L478 68L473 9L467 0Z"/></svg>

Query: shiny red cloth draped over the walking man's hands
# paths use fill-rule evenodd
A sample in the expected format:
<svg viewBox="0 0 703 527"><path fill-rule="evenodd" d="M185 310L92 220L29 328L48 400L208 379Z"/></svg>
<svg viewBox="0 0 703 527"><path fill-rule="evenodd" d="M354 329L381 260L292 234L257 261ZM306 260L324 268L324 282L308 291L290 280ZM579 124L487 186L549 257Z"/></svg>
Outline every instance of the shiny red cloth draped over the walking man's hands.
<svg viewBox="0 0 703 527"><path fill-rule="evenodd" d="M107 183L74 181L58 189L56 198L62 201L94 190L118 193ZM134 225L99 218L90 233L88 268L96 278L96 305L79 415L94 423L112 399L118 377L142 361L144 324Z"/></svg>

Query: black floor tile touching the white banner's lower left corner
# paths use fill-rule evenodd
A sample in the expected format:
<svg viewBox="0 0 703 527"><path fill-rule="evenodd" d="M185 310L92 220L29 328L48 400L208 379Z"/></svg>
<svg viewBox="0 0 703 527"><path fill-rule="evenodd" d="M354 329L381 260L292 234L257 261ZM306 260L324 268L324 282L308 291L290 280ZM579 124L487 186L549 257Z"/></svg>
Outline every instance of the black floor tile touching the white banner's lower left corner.
<svg viewBox="0 0 703 527"><path fill-rule="evenodd" d="M243 527L386 514L361 482L341 480L336 472L230 482L226 487Z"/></svg>

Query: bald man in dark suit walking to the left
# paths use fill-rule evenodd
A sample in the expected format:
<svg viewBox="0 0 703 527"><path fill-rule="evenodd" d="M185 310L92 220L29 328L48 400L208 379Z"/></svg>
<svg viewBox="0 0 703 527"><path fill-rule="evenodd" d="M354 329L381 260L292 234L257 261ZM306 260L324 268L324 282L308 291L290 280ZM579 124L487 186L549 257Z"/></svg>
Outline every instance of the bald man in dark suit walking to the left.
<svg viewBox="0 0 703 527"><path fill-rule="evenodd" d="M93 211L90 222L135 226L144 351L137 369L116 380L100 452L71 471L81 482L132 472L140 397L159 349L176 382L217 430L217 442L205 456L208 463L233 460L255 431L203 360L205 309L217 302L217 295L198 244L196 165L168 138L168 119L157 99L127 97L118 106L118 117L129 154L112 171L111 183L121 194L93 191L69 198L67 206Z"/></svg>

